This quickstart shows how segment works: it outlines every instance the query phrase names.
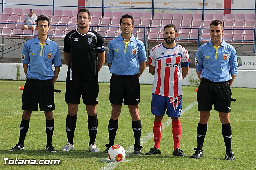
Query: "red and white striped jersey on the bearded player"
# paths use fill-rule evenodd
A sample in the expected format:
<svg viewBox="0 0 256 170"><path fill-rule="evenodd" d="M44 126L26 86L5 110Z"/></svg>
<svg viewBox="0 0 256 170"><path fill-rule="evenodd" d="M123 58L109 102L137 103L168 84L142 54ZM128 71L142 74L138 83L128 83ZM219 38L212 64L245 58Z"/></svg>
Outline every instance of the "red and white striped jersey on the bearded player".
<svg viewBox="0 0 256 170"><path fill-rule="evenodd" d="M184 63L184 64L182 64ZM182 95L182 69L189 65L188 51L181 45L167 48L164 44L153 47L148 65L155 66L152 93L160 96Z"/></svg>

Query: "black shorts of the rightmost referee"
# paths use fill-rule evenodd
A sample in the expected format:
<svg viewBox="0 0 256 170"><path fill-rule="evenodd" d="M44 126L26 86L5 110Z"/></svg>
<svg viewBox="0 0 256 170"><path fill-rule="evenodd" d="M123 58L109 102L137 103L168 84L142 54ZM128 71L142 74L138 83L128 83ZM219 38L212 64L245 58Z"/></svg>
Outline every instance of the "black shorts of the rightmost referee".
<svg viewBox="0 0 256 170"><path fill-rule="evenodd" d="M230 83L212 82L202 79L197 91L197 103L199 111L210 111L214 103L214 109L219 112L230 112L231 89Z"/></svg>

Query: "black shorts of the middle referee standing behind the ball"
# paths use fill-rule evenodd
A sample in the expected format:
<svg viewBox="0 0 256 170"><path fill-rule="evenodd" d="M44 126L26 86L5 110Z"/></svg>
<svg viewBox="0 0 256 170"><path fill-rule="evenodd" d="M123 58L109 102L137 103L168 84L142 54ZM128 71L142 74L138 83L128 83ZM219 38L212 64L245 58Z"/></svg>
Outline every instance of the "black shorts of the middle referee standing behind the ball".
<svg viewBox="0 0 256 170"><path fill-rule="evenodd" d="M112 74L109 85L109 101L114 105L138 105L140 81L137 75Z"/></svg>

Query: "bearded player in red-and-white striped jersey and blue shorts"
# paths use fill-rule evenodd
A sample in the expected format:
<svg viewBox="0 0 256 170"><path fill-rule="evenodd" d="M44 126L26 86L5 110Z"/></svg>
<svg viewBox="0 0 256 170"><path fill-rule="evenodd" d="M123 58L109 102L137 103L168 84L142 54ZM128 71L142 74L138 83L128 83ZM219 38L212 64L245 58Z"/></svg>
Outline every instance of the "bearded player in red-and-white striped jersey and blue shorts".
<svg viewBox="0 0 256 170"><path fill-rule="evenodd" d="M153 126L155 146L146 154L160 154L162 120L166 114L172 118L172 134L175 156L185 156L179 148L181 136L180 113L182 108L182 79L188 75L188 51L175 43L176 26L164 27L165 43L156 45L150 51L149 72L154 75L151 112L155 115Z"/></svg>

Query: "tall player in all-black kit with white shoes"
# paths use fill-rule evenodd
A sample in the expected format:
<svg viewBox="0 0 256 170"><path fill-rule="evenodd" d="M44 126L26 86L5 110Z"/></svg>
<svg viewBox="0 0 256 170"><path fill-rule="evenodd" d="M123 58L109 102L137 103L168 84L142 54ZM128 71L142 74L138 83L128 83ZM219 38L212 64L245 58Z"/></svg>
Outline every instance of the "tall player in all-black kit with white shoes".
<svg viewBox="0 0 256 170"><path fill-rule="evenodd" d="M78 28L66 34L64 39L64 60L68 66L65 101L68 104L66 133L68 142L62 151L74 149L73 138L76 115L82 95L88 115L90 152L99 152L95 145L98 129L98 72L105 63L105 48L102 36L91 30L90 12L81 8L77 13Z"/></svg>

